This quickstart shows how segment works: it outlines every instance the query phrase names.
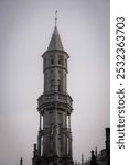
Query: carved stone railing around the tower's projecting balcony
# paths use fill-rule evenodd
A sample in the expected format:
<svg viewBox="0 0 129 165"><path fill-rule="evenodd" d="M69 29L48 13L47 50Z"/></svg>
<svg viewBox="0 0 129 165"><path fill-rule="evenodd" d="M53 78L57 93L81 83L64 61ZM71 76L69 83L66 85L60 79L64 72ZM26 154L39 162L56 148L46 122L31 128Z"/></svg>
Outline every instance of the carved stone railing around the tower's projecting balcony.
<svg viewBox="0 0 129 165"><path fill-rule="evenodd" d="M69 95L64 95L61 92L54 92L54 94L43 94L39 97L37 99L39 106L42 103L47 103L47 102L63 102L63 103L68 103L72 107L72 98Z"/></svg>

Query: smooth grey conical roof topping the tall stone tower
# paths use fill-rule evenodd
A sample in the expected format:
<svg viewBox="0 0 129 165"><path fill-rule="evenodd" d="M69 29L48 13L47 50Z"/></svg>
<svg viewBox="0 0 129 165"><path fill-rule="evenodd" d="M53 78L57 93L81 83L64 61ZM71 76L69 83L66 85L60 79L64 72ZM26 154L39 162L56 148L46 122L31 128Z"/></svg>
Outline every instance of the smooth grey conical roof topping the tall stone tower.
<svg viewBox="0 0 129 165"><path fill-rule="evenodd" d="M55 29L53 31L53 35L50 42L50 45L47 47L47 51L52 51L52 50L60 50L60 51L64 51L63 45L62 45L62 41L60 37L60 33L58 30L55 25Z"/></svg>

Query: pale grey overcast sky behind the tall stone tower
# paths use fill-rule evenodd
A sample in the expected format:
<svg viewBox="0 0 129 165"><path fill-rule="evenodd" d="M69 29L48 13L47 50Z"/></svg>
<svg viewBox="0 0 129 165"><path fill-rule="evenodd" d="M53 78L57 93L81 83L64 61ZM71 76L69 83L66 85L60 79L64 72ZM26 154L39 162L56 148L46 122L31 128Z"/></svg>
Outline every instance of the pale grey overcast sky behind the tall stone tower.
<svg viewBox="0 0 129 165"><path fill-rule="evenodd" d="M31 165L43 92L41 55L57 28L69 54L74 160L105 147L109 127L109 0L0 0L0 165Z"/></svg>

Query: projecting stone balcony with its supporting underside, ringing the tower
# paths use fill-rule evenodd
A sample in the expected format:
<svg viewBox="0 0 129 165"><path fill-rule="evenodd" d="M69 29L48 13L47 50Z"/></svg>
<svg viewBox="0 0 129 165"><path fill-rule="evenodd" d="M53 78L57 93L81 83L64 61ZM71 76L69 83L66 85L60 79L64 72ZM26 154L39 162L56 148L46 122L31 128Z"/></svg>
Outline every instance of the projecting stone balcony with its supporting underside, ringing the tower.
<svg viewBox="0 0 129 165"><path fill-rule="evenodd" d="M43 111L46 108L57 108L73 110L73 100L68 94L63 92L45 92L37 99L37 110Z"/></svg>

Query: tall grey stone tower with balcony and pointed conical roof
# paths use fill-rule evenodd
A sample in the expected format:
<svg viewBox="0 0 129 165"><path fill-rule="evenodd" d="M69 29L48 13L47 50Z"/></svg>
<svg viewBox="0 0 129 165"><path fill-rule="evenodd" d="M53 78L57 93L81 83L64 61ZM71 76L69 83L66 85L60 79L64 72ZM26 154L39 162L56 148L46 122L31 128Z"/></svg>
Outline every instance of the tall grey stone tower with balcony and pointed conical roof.
<svg viewBox="0 0 129 165"><path fill-rule="evenodd" d="M55 24L47 51L42 55L44 92L37 99L40 129L37 144L34 144L33 165L73 164L73 100L67 94L68 57Z"/></svg>

